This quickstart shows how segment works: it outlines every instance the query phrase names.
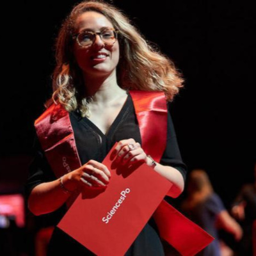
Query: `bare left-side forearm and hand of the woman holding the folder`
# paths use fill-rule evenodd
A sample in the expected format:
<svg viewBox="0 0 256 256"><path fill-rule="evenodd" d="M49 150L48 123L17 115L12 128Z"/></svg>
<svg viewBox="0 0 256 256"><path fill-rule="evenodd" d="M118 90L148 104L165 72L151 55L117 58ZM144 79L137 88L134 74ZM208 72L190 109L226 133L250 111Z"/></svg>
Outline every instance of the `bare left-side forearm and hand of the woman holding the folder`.
<svg viewBox="0 0 256 256"><path fill-rule="evenodd" d="M73 193L79 193L83 186L91 189L105 187L111 174L108 168L97 161L90 160L80 168L67 173L61 180L44 182L32 189L28 198L28 208L35 215L41 215L60 208Z"/></svg>

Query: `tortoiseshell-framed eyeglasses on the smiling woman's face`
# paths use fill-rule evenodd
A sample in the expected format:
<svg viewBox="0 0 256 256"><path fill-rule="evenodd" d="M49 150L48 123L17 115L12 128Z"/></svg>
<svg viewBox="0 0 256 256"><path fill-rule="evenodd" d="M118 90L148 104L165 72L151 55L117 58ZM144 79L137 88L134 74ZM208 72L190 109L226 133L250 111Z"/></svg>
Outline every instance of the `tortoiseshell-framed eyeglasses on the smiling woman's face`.
<svg viewBox="0 0 256 256"><path fill-rule="evenodd" d="M77 43L80 46L90 47L95 41L96 35L99 35L100 39L102 40L102 42L104 42L104 44L113 45L116 42L117 33L118 33L118 30L113 28L106 28L101 32L84 30L74 35L73 38L76 38Z"/></svg>

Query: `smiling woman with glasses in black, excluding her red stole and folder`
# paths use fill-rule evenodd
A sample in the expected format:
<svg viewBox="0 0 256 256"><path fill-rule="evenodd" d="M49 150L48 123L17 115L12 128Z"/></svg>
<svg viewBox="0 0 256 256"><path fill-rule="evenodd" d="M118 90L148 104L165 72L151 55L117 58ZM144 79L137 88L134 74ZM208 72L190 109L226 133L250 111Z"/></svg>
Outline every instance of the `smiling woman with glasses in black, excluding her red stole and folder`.
<svg viewBox="0 0 256 256"><path fill-rule="evenodd" d="M65 175L54 174L54 161L50 163L49 157L52 147L45 149L45 143L52 143L55 137L47 134L51 140L46 142L44 136L39 138L44 152L38 150L26 186L30 211L35 215L54 214L52 224L56 225L67 211L65 203L72 202L82 188L108 186L111 173L101 162L116 142L115 161L126 165L147 163L173 183L170 195L179 196L184 188L186 166L180 157L170 113L166 146L161 161L156 163L141 147L138 116L131 97L131 92L139 90L164 93L168 101L172 100L182 87L182 78L172 62L154 51L120 11L98 1L77 4L68 15L57 38L56 61L52 101L48 102L48 112L38 118L36 125L55 106L66 111L81 166L68 166ZM56 113L59 115L61 111ZM49 132L54 120L51 124L47 129L40 126L40 131L36 127L37 133ZM66 131L65 125L61 129ZM67 168L67 164L63 162L63 165ZM56 228L49 255L74 252L93 255ZM153 219L125 255L164 255Z"/></svg>

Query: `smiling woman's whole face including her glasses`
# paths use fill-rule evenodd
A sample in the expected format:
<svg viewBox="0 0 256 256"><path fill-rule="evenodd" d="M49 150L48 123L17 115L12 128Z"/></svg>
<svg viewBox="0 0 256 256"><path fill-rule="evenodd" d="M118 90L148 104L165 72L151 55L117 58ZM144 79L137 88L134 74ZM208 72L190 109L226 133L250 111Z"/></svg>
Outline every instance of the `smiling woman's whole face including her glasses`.
<svg viewBox="0 0 256 256"><path fill-rule="evenodd" d="M83 70L85 83L99 76L116 77L119 44L111 22L101 13L85 12L77 17L76 24L79 34L74 44L74 56Z"/></svg>

